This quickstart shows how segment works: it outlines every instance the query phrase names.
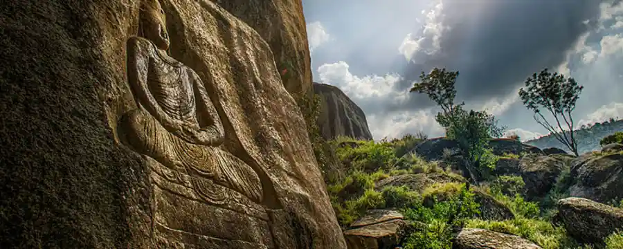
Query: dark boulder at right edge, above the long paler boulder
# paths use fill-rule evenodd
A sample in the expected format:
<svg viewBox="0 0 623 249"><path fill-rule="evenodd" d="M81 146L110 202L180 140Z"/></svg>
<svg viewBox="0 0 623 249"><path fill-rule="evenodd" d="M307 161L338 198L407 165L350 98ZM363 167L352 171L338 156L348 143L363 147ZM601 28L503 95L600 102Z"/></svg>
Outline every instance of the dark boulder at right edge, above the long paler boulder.
<svg viewBox="0 0 623 249"><path fill-rule="evenodd" d="M586 154L571 165L571 196L599 202L623 198L623 154Z"/></svg>

